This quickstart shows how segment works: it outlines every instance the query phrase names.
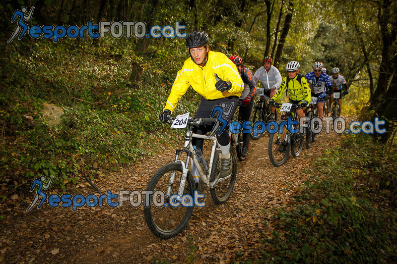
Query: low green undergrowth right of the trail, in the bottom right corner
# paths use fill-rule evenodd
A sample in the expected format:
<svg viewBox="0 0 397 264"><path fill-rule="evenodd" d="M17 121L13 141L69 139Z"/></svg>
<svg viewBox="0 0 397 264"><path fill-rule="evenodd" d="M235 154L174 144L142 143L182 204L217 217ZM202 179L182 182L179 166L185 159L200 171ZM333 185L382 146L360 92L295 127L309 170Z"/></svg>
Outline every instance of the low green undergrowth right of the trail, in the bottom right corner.
<svg viewBox="0 0 397 264"><path fill-rule="evenodd" d="M367 135L342 142L317 159L307 171L312 181L269 219L279 226L262 240L270 263L396 262L396 186L387 184L396 180L396 166L388 166L396 153L385 157Z"/></svg>

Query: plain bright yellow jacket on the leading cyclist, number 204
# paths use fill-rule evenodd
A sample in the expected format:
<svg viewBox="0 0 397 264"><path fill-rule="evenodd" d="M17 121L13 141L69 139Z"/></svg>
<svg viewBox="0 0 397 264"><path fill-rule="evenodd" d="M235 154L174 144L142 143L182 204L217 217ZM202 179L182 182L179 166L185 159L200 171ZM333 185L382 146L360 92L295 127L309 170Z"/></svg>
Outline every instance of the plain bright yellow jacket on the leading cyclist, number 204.
<svg viewBox="0 0 397 264"><path fill-rule="evenodd" d="M232 88L229 91L221 93L216 90L215 73L221 80L232 83ZM203 67L196 64L191 58L185 60L182 69L178 71L163 110L168 109L172 113L190 86L207 100L229 96L240 97L244 90L243 80L236 65L225 54L212 51L208 52L208 60Z"/></svg>

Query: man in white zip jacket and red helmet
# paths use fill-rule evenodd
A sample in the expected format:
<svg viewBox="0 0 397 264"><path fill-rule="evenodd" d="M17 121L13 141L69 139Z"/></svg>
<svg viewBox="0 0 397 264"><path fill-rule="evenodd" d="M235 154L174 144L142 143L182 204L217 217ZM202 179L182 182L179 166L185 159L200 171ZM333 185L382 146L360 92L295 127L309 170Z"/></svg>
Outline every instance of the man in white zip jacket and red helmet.
<svg viewBox="0 0 397 264"><path fill-rule="evenodd" d="M262 60L263 66L259 68L254 74L254 82L258 83L258 80L261 80L262 87L265 89L264 96L266 102L267 100L269 100L269 98L272 98L277 93L282 81L280 72L276 67L271 65L272 62L273 60L271 59L271 57L264 57ZM275 107L271 106L271 119L274 119L274 110Z"/></svg>

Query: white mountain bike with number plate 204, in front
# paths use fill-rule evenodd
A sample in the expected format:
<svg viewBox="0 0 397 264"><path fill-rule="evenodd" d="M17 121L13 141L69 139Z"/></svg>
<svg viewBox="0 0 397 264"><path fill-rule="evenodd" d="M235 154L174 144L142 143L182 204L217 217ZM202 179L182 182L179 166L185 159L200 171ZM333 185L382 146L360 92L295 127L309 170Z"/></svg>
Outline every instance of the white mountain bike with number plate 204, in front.
<svg viewBox="0 0 397 264"><path fill-rule="evenodd" d="M192 176L192 168L189 163L193 162L199 172L199 191L203 188L209 187L212 200L216 204L226 202L234 188L237 175L237 157L234 149L230 147L230 155L232 158L232 173L225 178L218 178L220 173L219 155L221 150L214 136L215 132L211 131L209 135L199 135L193 133L194 126L212 125L216 122L216 118L171 118L168 123L174 122L171 125L173 128L175 123L179 123L179 128L187 127L186 140L184 138L184 148L177 150L174 162L168 163L159 168L151 178L147 191L156 193L163 193L161 195L152 195L152 200L148 206L145 205L144 215L147 226L150 231L160 238L171 238L177 235L187 225L192 213L192 203L195 192L195 181ZM178 124L177 124L178 126ZM177 127L174 126L174 127ZM216 129L215 126L213 130ZM209 165L206 168L203 162L200 162L195 146L192 145L193 138L200 138L212 141L212 149L209 158ZM185 161L182 160L182 155L186 154ZM206 162L206 161L205 161ZM192 165L193 166L193 165ZM146 198L145 198L146 199ZM180 204L177 207L173 205ZM188 206L183 206L188 205Z"/></svg>

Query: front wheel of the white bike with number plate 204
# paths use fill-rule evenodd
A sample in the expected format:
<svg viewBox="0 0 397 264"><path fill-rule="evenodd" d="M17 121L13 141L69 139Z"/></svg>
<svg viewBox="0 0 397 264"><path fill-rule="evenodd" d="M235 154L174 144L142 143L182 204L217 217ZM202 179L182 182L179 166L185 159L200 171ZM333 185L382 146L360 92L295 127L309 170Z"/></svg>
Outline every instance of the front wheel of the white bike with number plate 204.
<svg viewBox="0 0 397 264"><path fill-rule="evenodd" d="M170 186L170 178L171 175L175 173L174 183ZM171 238L177 235L182 229L188 224L189 218L193 213L192 207L185 207L179 205L178 207L170 206L170 197L174 194L178 193L179 185L182 177L182 167L181 163L174 162L169 163L162 166L157 172L153 175L152 179L149 182L147 187L148 191L162 191L165 194L164 204L163 205L154 205L152 201L150 201L150 205L148 207L144 207L144 215L147 226L153 234L160 238ZM194 186L195 182L193 180L192 174L189 171L188 176L185 182L185 192L192 197L183 195L182 199L185 203L188 203L188 200L193 199L194 197ZM171 188L171 195L167 197L167 190ZM153 197L153 200L156 199L158 201L158 196ZM176 199L173 199L174 203L178 202ZM193 203L194 201L189 201Z"/></svg>

